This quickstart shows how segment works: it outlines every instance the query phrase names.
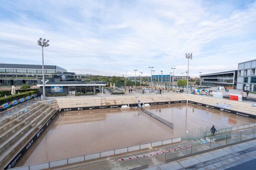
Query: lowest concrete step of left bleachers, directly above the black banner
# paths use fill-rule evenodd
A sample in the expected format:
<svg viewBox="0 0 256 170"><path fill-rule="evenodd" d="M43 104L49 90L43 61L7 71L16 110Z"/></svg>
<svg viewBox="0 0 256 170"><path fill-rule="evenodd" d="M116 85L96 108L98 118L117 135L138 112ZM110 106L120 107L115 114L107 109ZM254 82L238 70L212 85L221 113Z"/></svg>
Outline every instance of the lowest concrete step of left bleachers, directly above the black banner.
<svg viewBox="0 0 256 170"><path fill-rule="evenodd" d="M34 128L29 128L19 138L13 140L12 144L1 152L0 165L4 166L4 164L6 164L6 162L9 161L16 154L20 147L24 146L25 143L29 141L29 139L37 132L38 127L44 125L57 110L59 109L57 108L51 110L48 114L46 114L37 122L37 125Z"/></svg>

